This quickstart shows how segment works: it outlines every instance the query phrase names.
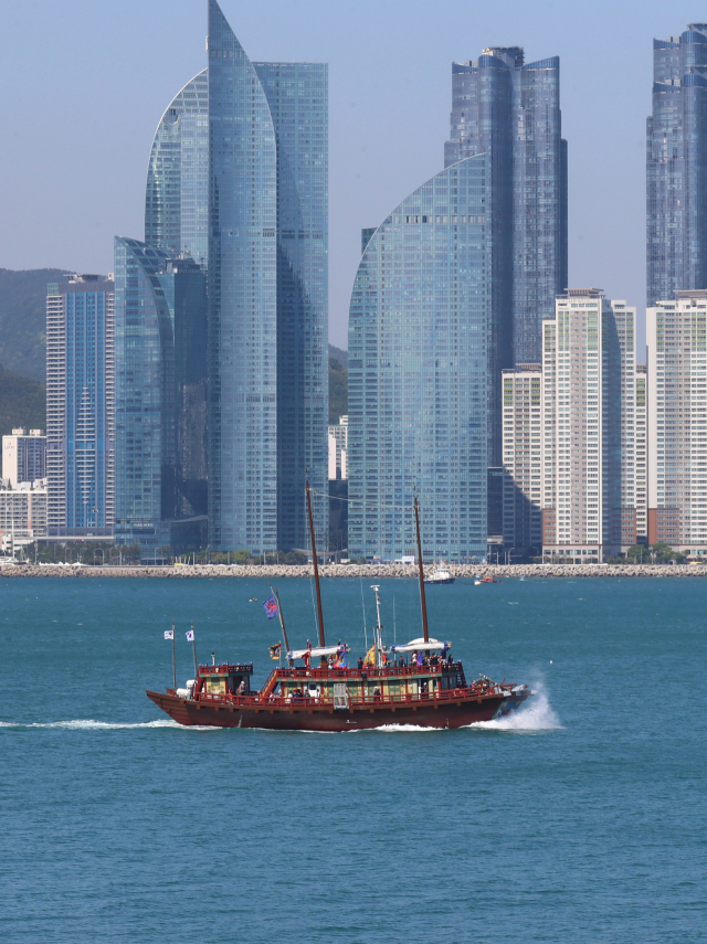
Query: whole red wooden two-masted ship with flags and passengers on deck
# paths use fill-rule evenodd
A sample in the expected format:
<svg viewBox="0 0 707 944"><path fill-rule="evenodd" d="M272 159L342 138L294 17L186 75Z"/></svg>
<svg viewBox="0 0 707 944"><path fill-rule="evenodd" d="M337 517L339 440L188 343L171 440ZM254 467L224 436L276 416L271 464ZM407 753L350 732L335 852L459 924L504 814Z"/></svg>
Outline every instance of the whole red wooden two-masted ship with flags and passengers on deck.
<svg viewBox="0 0 707 944"><path fill-rule="evenodd" d="M319 646L291 650L276 592L264 605L268 616L278 615L288 667L274 669L260 691L251 690L252 664L197 666L187 687L166 693L148 691L155 704L180 724L214 728L264 728L276 731L354 731L389 724L422 728L461 728L490 721L517 709L534 692L526 685L492 681L486 676L467 681L462 662L452 657L452 644L430 637L420 542L420 516L415 498L418 561L423 635L402 646L386 647L380 619L380 587L374 585L378 621L374 641L356 668L348 665L349 647L327 646L319 571L312 517L310 489L307 509L312 539ZM172 639L175 630L172 627ZM193 641L193 629L188 637ZM276 653L274 650L277 650ZM271 647L277 658L279 644ZM173 649L172 649L173 653ZM319 666L313 660L319 660ZM296 665L302 662L302 665Z"/></svg>

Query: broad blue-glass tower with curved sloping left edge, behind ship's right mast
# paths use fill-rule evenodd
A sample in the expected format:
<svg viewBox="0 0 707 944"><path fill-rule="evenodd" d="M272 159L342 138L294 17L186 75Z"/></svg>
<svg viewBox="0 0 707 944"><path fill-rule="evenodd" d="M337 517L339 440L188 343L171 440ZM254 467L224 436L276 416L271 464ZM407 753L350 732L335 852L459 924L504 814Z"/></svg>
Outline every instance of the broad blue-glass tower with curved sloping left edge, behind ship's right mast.
<svg viewBox="0 0 707 944"><path fill-rule="evenodd" d="M494 333L487 161L468 157L374 231L349 315L349 552L486 553Z"/></svg>

